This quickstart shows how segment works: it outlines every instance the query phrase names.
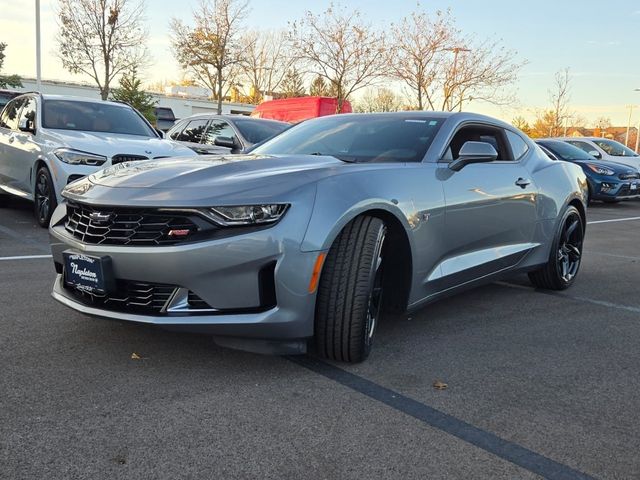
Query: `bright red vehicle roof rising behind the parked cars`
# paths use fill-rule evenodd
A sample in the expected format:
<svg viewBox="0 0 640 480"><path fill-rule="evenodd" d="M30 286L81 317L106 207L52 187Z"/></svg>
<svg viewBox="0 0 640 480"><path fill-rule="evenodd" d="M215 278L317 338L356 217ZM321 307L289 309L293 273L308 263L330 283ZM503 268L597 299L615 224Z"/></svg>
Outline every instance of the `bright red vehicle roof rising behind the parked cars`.
<svg viewBox="0 0 640 480"><path fill-rule="evenodd" d="M308 118L333 115L337 108L338 100L333 97L282 98L262 102L251 112L251 116L297 123ZM351 113L351 104L347 100L342 103L340 113Z"/></svg>

